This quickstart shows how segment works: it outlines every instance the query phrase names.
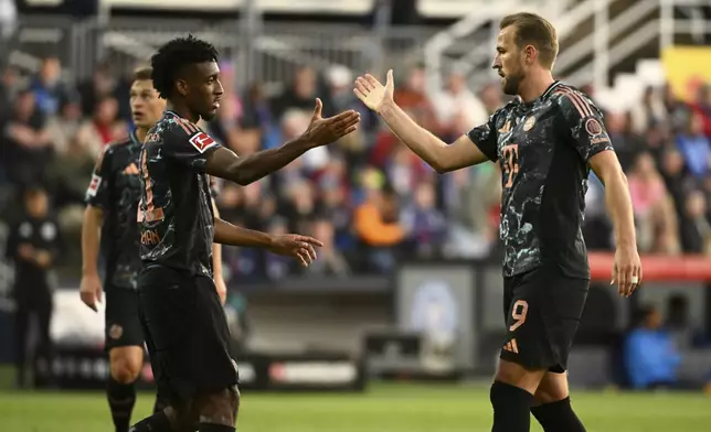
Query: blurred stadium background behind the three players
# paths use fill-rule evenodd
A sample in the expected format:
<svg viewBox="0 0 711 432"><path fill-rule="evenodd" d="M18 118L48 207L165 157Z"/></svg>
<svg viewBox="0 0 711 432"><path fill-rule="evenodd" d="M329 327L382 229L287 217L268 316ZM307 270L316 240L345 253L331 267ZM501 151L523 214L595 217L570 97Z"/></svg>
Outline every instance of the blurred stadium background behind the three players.
<svg viewBox="0 0 711 432"><path fill-rule="evenodd" d="M362 114L340 142L253 185L221 185L224 219L326 244L306 270L224 249L234 356L254 403L241 424L487 430L487 382L503 343L500 172L482 164L436 175L351 89L359 74L393 68L397 104L454 141L507 101L490 64L499 19L519 11L556 26L556 78L604 110L644 255L644 287L618 298L604 188L591 174L584 235L594 280L570 359L583 417L601 431L705 430L711 3L698 0L0 0L0 249L33 205L24 192L40 186L61 250L50 341L29 320L25 353L13 327L18 291L30 288L15 287L13 263L0 258L0 429L110 425L100 391L54 391L100 389L107 374L102 311L77 292L84 192L104 147L132 128L134 68L191 32L221 54L226 95L205 128L238 154L299 136L316 97L325 115ZM32 365L28 387L50 392L11 390L19 355ZM141 380L151 388L149 367ZM263 390L360 396L250 399ZM52 414L24 415L35 403Z"/></svg>

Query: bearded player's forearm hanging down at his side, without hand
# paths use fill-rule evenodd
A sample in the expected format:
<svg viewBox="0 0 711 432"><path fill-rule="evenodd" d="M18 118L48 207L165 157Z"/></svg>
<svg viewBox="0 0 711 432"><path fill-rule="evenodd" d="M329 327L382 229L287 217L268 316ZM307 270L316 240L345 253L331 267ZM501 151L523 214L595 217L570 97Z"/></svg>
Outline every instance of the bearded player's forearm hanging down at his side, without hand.
<svg viewBox="0 0 711 432"><path fill-rule="evenodd" d="M605 181L605 204L613 219L617 246L636 246L635 215L627 177L622 171Z"/></svg>

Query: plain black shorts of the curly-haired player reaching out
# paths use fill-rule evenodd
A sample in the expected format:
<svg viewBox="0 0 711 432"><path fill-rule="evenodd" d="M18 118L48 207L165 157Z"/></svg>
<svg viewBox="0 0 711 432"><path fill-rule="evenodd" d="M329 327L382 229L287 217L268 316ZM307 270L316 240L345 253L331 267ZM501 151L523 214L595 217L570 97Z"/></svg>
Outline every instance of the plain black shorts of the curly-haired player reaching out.
<svg viewBox="0 0 711 432"><path fill-rule="evenodd" d="M230 330L212 279L153 264L141 271L138 292L160 395L180 403L237 385Z"/></svg>

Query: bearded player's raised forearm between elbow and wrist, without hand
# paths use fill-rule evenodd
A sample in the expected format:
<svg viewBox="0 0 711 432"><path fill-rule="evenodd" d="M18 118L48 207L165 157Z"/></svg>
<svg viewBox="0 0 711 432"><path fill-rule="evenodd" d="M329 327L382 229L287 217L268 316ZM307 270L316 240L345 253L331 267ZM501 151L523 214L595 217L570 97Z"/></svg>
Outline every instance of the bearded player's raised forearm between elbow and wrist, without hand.
<svg viewBox="0 0 711 432"><path fill-rule="evenodd" d="M394 102L385 104L380 116L393 133L422 160L437 171L443 170L443 151L447 144L417 125Z"/></svg>

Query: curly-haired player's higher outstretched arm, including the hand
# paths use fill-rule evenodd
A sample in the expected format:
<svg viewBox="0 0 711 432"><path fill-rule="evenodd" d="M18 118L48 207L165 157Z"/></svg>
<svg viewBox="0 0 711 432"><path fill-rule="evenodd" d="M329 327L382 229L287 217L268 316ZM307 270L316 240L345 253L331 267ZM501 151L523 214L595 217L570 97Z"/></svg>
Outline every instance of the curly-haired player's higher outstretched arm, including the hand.
<svg viewBox="0 0 711 432"><path fill-rule="evenodd" d="M358 112L350 110L325 119L321 108L321 100L316 99L311 123L298 139L245 158L219 148L208 155L204 171L244 186L280 170L308 150L337 141L357 129L360 121Z"/></svg>

